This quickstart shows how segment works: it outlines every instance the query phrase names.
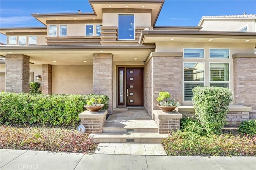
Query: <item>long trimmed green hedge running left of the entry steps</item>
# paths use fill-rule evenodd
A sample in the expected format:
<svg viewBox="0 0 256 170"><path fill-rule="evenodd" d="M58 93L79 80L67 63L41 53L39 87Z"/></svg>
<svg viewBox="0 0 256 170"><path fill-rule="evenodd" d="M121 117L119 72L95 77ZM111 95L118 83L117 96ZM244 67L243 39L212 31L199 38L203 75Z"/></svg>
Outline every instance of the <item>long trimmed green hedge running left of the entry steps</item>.
<svg viewBox="0 0 256 170"><path fill-rule="evenodd" d="M29 94L0 92L1 124L75 125L86 100L102 99L108 109L108 97L99 94Z"/></svg>

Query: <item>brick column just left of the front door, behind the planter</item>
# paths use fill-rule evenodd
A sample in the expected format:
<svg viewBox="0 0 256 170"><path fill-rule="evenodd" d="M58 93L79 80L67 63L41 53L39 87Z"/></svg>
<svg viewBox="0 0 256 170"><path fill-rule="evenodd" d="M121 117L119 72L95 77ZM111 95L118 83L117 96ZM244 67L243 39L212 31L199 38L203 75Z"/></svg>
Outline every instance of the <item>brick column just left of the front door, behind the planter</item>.
<svg viewBox="0 0 256 170"><path fill-rule="evenodd" d="M113 113L113 55L93 55L93 92L109 98L108 114Z"/></svg>

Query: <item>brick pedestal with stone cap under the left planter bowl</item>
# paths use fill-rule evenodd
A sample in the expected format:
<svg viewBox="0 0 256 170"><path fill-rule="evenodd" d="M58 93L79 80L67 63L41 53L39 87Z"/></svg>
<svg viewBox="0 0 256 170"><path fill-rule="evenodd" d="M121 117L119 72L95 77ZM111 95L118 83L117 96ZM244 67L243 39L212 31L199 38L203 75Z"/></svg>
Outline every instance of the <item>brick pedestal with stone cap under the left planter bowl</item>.
<svg viewBox="0 0 256 170"><path fill-rule="evenodd" d="M86 110L78 115L81 125L85 127L85 133L102 133L106 122L107 110L100 110L99 113L90 113Z"/></svg>

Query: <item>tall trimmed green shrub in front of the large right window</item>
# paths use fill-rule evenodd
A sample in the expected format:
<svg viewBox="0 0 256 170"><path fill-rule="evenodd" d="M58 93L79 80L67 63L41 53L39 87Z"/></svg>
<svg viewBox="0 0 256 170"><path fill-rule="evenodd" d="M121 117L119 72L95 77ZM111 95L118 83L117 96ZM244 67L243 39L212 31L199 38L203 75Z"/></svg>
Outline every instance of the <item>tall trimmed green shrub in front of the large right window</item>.
<svg viewBox="0 0 256 170"><path fill-rule="evenodd" d="M195 87L193 94L196 119L208 134L219 134L226 124L228 106L233 101L231 90L222 87Z"/></svg>

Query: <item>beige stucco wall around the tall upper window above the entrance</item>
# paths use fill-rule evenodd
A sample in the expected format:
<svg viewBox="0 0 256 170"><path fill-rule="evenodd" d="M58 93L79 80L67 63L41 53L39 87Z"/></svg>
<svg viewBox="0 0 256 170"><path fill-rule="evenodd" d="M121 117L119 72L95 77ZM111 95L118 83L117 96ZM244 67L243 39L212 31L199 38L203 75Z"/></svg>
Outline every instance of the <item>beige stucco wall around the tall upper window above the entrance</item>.
<svg viewBox="0 0 256 170"><path fill-rule="evenodd" d="M103 26L118 26L118 14L127 13L103 13ZM135 27L143 27L151 25L151 14L149 13L128 13L134 14Z"/></svg>

